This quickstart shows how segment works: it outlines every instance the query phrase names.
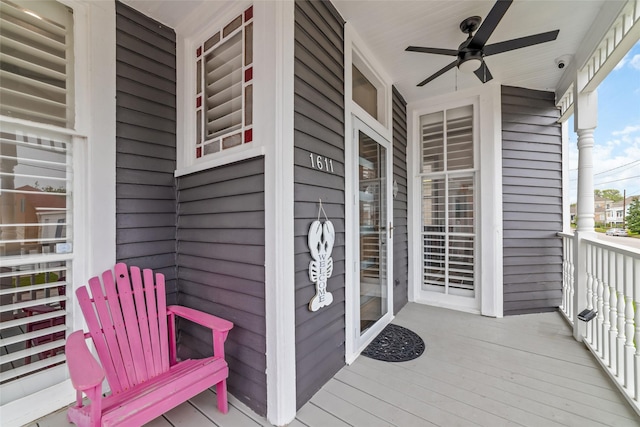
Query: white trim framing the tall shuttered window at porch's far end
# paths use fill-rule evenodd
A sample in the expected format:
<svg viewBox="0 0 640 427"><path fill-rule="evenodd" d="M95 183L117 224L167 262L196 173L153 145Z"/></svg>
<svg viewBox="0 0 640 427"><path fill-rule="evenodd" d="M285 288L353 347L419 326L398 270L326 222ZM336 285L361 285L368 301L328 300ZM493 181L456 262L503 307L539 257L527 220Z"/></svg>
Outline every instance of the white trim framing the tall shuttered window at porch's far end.
<svg viewBox="0 0 640 427"><path fill-rule="evenodd" d="M420 299L422 284L420 116L430 112L474 105L476 169L476 289L477 297L448 296ZM501 89L495 82L454 95L429 98L407 105L409 141L409 301L443 306L485 316L503 315L502 259L502 136ZM481 142L481 143L480 143Z"/></svg>

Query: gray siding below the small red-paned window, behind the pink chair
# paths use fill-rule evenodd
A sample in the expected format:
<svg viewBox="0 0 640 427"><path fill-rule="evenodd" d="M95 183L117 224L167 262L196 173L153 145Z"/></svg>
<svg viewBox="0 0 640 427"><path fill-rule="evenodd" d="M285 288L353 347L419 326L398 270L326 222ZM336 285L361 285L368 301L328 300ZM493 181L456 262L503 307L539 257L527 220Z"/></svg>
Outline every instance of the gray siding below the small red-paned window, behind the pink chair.
<svg viewBox="0 0 640 427"><path fill-rule="evenodd" d="M264 158L180 177L178 203L178 301L234 323L225 344L229 391L264 415ZM182 354L211 348L210 333L181 324Z"/></svg>

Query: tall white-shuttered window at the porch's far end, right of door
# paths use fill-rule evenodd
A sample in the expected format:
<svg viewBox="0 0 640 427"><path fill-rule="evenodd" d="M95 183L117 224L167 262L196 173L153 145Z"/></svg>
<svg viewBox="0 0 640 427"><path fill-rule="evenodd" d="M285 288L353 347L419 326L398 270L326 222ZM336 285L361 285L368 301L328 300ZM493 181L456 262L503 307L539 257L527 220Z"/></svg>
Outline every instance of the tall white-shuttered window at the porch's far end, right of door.
<svg viewBox="0 0 640 427"><path fill-rule="evenodd" d="M473 107L420 118L425 291L474 296Z"/></svg>

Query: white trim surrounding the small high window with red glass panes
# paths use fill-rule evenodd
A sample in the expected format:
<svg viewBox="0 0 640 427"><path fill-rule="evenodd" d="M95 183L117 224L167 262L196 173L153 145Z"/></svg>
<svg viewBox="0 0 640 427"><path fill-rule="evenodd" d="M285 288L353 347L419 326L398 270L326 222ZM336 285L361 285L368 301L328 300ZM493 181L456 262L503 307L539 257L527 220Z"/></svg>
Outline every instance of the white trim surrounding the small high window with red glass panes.
<svg viewBox="0 0 640 427"><path fill-rule="evenodd" d="M258 23L256 8L263 7L262 2L204 2L195 9L189 18L185 19L176 31L176 106L177 106L177 169L175 176L184 176L207 169L216 168L252 157L263 156L265 149L265 121L260 120L261 107L264 104L256 99L256 90L259 85L272 85L268 79L270 73L268 61L263 54L268 49L268 42L260 38L256 32ZM195 157L196 140L196 61L195 51L198 46L208 40L217 30L231 22L238 15L253 5L253 140L250 143L222 150L215 154L203 155L199 159ZM244 49L243 49L244 50ZM264 100L263 100L264 102ZM273 108L273 107L270 107ZM270 125L268 125L270 126Z"/></svg>

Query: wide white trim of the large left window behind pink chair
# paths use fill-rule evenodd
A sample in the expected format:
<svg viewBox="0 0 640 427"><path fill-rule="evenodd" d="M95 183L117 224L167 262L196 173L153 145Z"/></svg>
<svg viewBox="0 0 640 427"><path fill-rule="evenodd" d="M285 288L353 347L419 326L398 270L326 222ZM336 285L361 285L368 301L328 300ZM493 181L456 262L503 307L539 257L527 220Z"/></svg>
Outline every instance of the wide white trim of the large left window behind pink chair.
<svg viewBox="0 0 640 427"><path fill-rule="evenodd" d="M69 282L75 293L91 273L115 263L116 19L114 2L59 1L74 12L75 87L85 88L74 92L75 131L69 131L74 139L86 138L86 143L75 144L73 160L75 175L86 178L74 179L73 189L75 237ZM80 308L73 298L70 302L68 325L82 329ZM74 400L75 390L66 380L0 407L2 423L28 424Z"/></svg>

